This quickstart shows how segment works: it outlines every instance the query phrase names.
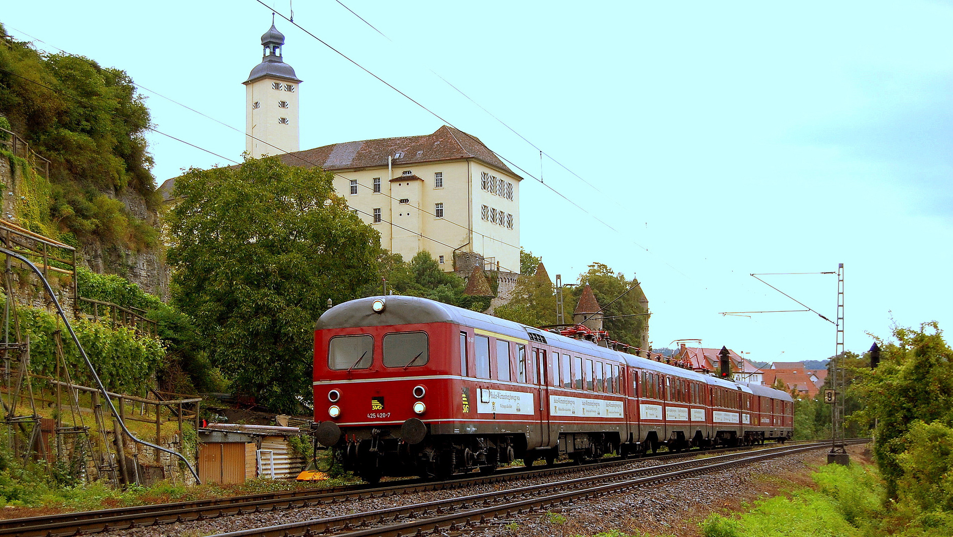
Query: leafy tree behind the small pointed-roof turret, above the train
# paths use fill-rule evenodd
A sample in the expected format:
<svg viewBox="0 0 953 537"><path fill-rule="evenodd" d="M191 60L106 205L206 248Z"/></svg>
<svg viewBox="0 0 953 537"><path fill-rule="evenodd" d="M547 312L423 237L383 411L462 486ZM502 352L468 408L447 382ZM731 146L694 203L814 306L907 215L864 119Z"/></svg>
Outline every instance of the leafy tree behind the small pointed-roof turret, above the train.
<svg viewBox="0 0 953 537"><path fill-rule="evenodd" d="M638 286L638 280L633 277L628 280L621 272L614 272L612 268L602 264L593 263L589 270L579 274L579 285L572 291L572 298L566 304L566 311L571 312L576 308L579 296L582 294L582 288L589 284L596 295L599 306L602 307L602 313L606 317L616 317L606 319L602 326L609 331L609 336L614 340L634 347L649 348L648 341L642 341L642 332L648 324L648 315L639 315L638 317L618 317L619 315L632 315L635 313L648 313L648 301L645 299L645 293L641 286ZM626 289L636 286L631 291L621 296ZM621 297L621 298L619 298ZM616 300L618 298L618 300ZM613 302L615 301L615 302Z"/></svg>

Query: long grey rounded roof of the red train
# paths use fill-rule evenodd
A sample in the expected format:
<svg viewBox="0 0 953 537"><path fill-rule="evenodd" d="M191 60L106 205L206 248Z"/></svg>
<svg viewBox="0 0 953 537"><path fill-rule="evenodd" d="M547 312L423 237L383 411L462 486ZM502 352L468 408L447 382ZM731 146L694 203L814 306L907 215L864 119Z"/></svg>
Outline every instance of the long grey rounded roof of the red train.
<svg viewBox="0 0 953 537"><path fill-rule="evenodd" d="M384 311L376 313L371 305L377 299L384 300ZM578 340L541 328L527 327L515 321L494 317L471 309L458 308L427 298L404 295L370 296L342 302L321 314L314 329L389 327L395 325L423 325L428 323L452 323L470 328L481 328L514 338L532 340L529 334L542 336L554 347L578 351L580 354L598 356L624 362L633 368L642 368L679 375L722 388L740 389L755 395L770 396L785 401L793 401L787 392L761 385L749 385L723 380L692 369L679 368L663 362L649 360L635 354L620 352L611 348L599 347L586 340Z"/></svg>

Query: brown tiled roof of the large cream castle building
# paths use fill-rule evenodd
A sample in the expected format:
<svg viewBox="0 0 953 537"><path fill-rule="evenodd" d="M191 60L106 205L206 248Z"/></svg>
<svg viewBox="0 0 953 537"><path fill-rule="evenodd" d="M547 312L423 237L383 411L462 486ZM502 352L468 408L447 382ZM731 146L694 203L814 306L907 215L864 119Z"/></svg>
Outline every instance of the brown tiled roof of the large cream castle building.
<svg viewBox="0 0 953 537"><path fill-rule="evenodd" d="M332 144L320 148L305 149L279 155L289 166L316 165L321 169L360 169L387 166L387 157L401 153L392 166L395 170L422 162L475 158L497 169L518 176L509 169L496 153L479 138L453 127L444 125L433 134L378 138Z"/></svg>

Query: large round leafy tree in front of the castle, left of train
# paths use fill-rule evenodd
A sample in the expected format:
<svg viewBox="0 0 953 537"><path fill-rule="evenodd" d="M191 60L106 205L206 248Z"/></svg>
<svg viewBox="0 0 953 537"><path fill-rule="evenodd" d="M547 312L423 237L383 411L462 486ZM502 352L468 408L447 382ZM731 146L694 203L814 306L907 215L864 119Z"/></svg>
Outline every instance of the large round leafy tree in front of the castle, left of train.
<svg viewBox="0 0 953 537"><path fill-rule="evenodd" d="M332 174L277 157L190 169L175 181L174 304L192 316L233 387L292 411L311 388L314 322L375 278L380 237Z"/></svg>

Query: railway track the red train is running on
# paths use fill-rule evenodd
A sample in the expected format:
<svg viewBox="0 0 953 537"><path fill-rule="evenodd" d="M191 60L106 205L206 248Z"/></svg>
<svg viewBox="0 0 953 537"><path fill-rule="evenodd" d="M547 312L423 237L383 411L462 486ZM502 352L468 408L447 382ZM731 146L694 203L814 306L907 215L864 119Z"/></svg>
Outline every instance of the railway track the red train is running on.
<svg viewBox="0 0 953 537"><path fill-rule="evenodd" d="M815 445L811 444L811 446ZM715 454L725 451L738 451L739 449L740 448L709 449L703 451L691 450L653 455L647 458L659 461L694 459L699 455ZM310 488L234 496L228 498L177 502L172 504L121 507L96 511L62 513L40 517L9 519L0 521L0 537L65 537L68 535L91 534L119 529L130 529L134 527L159 527L194 520L206 520L210 518L260 513L274 510L286 510L301 507L314 507L324 504L333 504L335 502L349 498L380 498L429 490L446 490L460 487L471 487L475 485L506 482L529 477L558 476L561 474L578 472L580 470L586 469L611 469L611 467L615 465L622 465L631 461L632 459L606 459L598 463L581 466L569 463L558 465L556 467L511 467L498 470L496 474L464 477L462 479L457 479L456 481L424 482L421 480L403 480L399 482L392 482L386 487L357 485L349 487Z"/></svg>

